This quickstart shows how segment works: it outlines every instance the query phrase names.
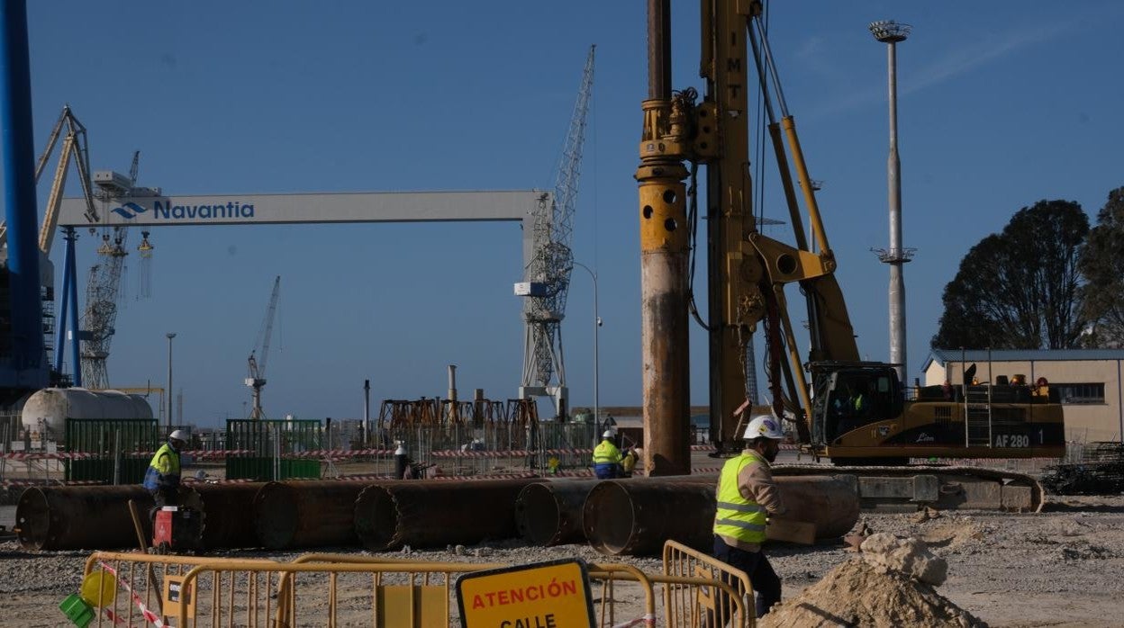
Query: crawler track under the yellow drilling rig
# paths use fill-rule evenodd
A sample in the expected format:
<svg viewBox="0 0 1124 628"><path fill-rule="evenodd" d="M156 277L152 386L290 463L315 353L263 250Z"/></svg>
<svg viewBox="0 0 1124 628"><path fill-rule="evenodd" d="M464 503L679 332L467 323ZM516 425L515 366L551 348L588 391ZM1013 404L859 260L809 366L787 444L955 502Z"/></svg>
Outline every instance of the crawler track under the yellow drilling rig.
<svg viewBox="0 0 1124 628"><path fill-rule="evenodd" d="M1022 473L968 466L776 465L774 475L835 475L853 479L863 510L908 512L997 510L1039 512L1045 491Z"/></svg>

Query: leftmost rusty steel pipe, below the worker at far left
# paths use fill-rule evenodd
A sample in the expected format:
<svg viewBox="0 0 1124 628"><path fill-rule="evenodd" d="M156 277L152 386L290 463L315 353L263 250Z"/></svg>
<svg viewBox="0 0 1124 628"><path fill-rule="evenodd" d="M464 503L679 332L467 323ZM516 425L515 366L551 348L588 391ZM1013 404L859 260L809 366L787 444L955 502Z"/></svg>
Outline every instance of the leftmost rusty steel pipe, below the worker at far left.
<svg viewBox="0 0 1124 628"><path fill-rule="evenodd" d="M25 549L136 547L129 500L147 525L152 497L140 485L26 489L16 506L19 544Z"/></svg>

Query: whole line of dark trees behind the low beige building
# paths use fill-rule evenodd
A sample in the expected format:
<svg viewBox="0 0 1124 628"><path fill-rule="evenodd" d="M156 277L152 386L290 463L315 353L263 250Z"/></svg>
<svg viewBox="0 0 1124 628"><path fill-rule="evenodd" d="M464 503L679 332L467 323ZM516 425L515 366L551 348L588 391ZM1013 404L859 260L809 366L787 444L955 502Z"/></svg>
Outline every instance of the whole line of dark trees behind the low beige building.
<svg viewBox="0 0 1124 628"><path fill-rule="evenodd" d="M1039 201L973 246L944 286L932 348L1124 347L1124 188L1090 228L1073 201Z"/></svg>

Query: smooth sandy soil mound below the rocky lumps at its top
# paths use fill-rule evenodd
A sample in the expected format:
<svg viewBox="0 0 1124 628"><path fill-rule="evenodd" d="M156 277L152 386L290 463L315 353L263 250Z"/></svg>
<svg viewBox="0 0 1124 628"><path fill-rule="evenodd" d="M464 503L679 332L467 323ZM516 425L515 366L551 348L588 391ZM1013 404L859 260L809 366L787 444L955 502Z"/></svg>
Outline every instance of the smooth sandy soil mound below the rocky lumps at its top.
<svg viewBox="0 0 1124 628"><path fill-rule="evenodd" d="M806 627L986 627L936 590L861 558L835 567L799 597L773 607L762 628Z"/></svg>

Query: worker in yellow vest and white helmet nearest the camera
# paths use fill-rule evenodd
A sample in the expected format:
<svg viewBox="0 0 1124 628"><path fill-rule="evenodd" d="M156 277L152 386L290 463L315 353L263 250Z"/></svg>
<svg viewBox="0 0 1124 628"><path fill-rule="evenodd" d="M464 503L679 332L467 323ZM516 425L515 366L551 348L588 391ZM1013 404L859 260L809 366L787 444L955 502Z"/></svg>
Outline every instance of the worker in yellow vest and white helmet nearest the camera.
<svg viewBox="0 0 1124 628"><path fill-rule="evenodd" d="M758 593L758 618L780 601L780 579L761 544L765 540L767 517L786 510L769 466L777 459L783 437L777 419L769 415L753 417L743 435L745 449L727 461L718 476L714 557L750 576ZM726 620L728 608L724 608Z"/></svg>

